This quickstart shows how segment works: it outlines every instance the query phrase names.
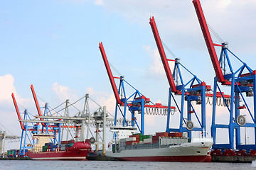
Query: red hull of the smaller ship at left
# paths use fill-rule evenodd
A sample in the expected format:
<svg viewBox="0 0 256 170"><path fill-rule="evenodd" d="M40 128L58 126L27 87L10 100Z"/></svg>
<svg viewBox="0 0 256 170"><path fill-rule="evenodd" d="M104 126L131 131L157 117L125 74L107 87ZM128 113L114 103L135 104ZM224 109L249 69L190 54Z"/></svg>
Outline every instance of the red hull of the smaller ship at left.
<svg viewBox="0 0 256 170"><path fill-rule="evenodd" d="M77 160L86 161L87 153L90 152L91 145L88 142L75 142L73 147L65 151L49 151L49 152L28 152L28 157L33 160Z"/></svg>

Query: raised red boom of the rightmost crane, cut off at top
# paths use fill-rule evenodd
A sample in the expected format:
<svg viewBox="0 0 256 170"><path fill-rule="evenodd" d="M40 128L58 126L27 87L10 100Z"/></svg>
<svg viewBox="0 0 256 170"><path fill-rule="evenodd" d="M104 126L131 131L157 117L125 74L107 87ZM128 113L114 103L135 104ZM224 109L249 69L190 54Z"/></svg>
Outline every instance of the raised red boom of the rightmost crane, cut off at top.
<svg viewBox="0 0 256 170"><path fill-rule="evenodd" d="M206 23L206 18L203 15L203 9L201 7L200 1L193 0L193 5L196 9L196 15L198 16L198 21L200 23L201 30L203 32L203 38L206 40L206 46L210 55L210 60L213 63L213 69L215 71L216 77L219 82L225 82L223 72L221 71L220 63L218 61L218 57L215 52L213 40L210 37L210 31Z"/></svg>

